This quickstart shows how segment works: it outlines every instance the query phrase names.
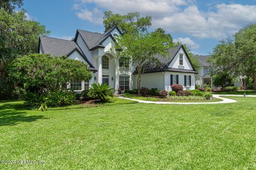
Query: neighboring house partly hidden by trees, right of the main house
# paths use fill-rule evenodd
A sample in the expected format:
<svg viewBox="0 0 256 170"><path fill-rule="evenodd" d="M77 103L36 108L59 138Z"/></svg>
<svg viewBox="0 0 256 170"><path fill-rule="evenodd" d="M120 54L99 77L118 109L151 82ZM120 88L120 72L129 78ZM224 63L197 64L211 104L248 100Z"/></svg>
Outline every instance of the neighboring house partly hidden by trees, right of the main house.
<svg viewBox="0 0 256 170"><path fill-rule="evenodd" d="M211 89L217 89L218 87L214 87L212 83L212 77L210 75L211 67L210 63L208 62L208 58L211 55L196 55L198 58L200 69L198 74L196 75L196 85L200 86L201 88L204 87L204 84L211 84ZM235 81L234 86L241 87L243 86L241 78Z"/></svg>

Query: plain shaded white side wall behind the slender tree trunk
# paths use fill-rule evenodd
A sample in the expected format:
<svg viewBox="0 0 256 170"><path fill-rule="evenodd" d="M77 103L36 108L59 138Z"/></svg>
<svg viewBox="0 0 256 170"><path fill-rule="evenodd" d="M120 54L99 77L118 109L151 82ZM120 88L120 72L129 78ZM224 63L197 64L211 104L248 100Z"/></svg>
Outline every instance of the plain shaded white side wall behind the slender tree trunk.
<svg viewBox="0 0 256 170"><path fill-rule="evenodd" d="M133 75L133 87L137 89L138 75ZM141 75L141 87L147 87L148 89L157 88L158 90L164 89L164 74L160 73L145 73Z"/></svg>

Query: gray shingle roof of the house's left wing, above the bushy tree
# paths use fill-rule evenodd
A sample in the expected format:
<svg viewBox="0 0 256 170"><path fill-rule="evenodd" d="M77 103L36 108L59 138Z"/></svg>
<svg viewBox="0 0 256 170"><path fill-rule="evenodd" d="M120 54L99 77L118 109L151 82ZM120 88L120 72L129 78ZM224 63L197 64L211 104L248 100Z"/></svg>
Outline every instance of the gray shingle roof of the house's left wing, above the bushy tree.
<svg viewBox="0 0 256 170"><path fill-rule="evenodd" d="M43 46L44 54L50 54L52 56L62 56L62 55L68 56L71 52L74 52L74 50L77 50L78 53L80 53L84 57L85 61L90 65L89 69L92 71L97 71L93 67L93 65L87 60L82 50L74 41L44 37L44 36L40 36L40 41Z"/></svg>

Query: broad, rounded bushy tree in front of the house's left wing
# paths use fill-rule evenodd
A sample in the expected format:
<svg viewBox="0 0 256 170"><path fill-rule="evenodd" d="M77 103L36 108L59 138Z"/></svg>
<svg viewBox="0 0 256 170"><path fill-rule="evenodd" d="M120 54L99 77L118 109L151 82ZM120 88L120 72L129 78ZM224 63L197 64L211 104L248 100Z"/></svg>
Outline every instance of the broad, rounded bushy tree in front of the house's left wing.
<svg viewBox="0 0 256 170"><path fill-rule="evenodd" d="M62 90L69 81L89 81L92 78L86 64L67 56L45 54L18 57L7 66L7 71L12 81L25 83L27 91L37 94Z"/></svg>

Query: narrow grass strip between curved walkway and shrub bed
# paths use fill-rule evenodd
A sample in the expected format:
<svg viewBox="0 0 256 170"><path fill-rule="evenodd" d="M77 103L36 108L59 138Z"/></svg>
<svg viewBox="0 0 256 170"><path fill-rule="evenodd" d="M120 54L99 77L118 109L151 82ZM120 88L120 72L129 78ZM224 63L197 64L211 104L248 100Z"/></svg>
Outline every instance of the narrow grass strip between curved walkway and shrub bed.
<svg viewBox="0 0 256 170"><path fill-rule="evenodd" d="M145 97L145 96L136 96L132 94L124 94L124 97L132 98L132 99L138 99L138 100L146 100L146 101L169 101L169 102L182 102L182 103L189 103L189 102L217 102L222 101L222 99L213 98L212 100L206 100L201 96L180 96L180 99L177 99L178 96L174 96L173 99L171 97L167 98L156 98L156 97Z"/></svg>

